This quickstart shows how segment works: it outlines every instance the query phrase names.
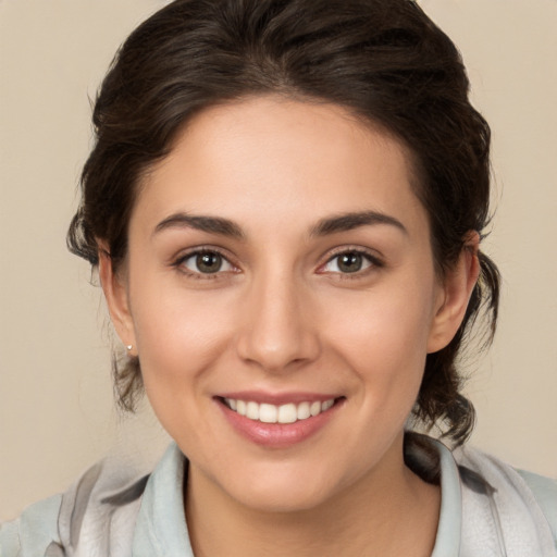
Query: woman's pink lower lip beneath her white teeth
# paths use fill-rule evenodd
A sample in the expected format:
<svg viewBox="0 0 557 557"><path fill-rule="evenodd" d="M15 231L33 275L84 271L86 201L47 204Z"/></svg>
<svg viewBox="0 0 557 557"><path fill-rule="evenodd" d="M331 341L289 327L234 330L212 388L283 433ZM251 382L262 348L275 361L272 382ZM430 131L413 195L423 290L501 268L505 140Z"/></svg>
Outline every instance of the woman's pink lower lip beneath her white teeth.
<svg viewBox="0 0 557 557"><path fill-rule="evenodd" d="M287 448L312 437L326 425L341 406L337 400L329 410L294 423L263 423L240 416L221 400L216 400L216 404L228 423L243 437L257 445L274 448Z"/></svg>

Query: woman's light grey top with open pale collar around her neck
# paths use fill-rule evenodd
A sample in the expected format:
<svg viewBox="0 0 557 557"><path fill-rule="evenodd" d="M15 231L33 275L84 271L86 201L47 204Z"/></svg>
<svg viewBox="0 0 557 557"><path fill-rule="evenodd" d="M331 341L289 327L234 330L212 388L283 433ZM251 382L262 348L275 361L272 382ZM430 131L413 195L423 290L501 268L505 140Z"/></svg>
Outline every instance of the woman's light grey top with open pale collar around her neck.
<svg viewBox="0 0 557 557"><path fill-rule="evenodd" d="M557 481L479 450L407 435L406 461L441 484L432 557L557 557ZM0 557L194 557L183 505L187 459L172 444L154 471L102 461L63 495L0 527Z"/></svg>

